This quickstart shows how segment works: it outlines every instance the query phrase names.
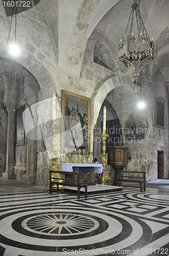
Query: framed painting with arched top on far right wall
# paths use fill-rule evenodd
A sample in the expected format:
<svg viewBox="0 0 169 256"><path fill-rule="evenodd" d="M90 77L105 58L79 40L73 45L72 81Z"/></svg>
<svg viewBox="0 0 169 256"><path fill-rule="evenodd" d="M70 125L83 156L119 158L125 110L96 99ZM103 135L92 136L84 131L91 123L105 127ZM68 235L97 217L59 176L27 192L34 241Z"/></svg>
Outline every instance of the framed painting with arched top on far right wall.
<svg viewBox="0 0 169 256"><path fill-rule="evenodd" d="M165 100L162 97L155 99L155 126L165 129Z"/></svg>

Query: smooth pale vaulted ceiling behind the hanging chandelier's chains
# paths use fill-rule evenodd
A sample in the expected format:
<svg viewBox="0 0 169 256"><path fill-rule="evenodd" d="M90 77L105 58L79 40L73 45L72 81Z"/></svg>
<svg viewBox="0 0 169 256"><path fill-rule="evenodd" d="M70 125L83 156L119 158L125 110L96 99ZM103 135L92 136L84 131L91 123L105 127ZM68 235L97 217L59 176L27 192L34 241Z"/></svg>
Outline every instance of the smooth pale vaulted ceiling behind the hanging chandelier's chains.
<svg viewBox="0 0 169 256"><path fill-rule="evenodd" d="M138 2L138 1L137 1ZM116 46L124 36L133 0L120 0L100 20L96 29L104 33ZM147 32L156 40L169 24L167 0L140 0L140 14Z"/></svg>

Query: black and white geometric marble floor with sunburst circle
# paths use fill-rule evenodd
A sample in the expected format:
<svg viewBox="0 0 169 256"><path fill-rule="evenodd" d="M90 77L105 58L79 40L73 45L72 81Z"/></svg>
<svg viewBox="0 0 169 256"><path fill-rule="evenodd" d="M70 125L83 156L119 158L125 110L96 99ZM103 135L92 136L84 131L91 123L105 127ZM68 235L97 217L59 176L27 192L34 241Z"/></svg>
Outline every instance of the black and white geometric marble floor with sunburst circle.
<svg viewBox="0 0 169 256"><path fill-rule="evenodd" d="M169 255L166 189L0 195L0 255Z"/></svg>

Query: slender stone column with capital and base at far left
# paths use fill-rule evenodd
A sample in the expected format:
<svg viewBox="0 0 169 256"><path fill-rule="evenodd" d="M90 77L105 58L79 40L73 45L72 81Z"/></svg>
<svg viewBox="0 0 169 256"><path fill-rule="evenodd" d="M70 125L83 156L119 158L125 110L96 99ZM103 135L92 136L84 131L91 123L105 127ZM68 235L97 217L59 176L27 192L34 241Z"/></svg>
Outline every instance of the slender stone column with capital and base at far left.
<svg viewBox="0 0 169 256"><path fill-rule="evenodd" d="M14 179L15 166L15 106L7 104L8 132L7 132L7 164L3 179Z"/></svg>

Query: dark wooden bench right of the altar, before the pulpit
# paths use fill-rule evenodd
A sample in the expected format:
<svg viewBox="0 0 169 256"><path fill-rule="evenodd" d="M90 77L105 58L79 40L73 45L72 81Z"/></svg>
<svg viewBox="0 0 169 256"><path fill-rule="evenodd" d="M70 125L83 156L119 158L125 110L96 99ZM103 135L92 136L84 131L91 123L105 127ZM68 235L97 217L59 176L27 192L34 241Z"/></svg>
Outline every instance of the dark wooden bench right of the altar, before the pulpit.
<svg viewBox="0 0 169 256"><path fill-rule="evenodd" d="M140 184L140 191L142 191L142 187L144 186L144 191L146 191L146 172L130 172L128 170L121 170L117 172L117 176L115 181L123 182L138 182ZM136 187L133 185L127 185L130 187Z"/></svg>

